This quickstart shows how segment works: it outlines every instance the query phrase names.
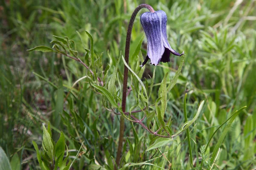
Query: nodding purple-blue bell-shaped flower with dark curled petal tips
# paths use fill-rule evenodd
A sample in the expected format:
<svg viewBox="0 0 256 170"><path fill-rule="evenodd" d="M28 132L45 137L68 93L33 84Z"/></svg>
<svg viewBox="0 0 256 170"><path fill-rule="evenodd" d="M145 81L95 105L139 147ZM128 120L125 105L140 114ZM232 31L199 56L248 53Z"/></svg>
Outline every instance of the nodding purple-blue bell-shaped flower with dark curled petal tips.
<svg viewBox="0 0 256 170"><path fill-rule="evenodd" d="M140 16L140 23L145 31L148 48L147 57L143 65L151 60L152 65L158 65L159 62L170 62L170 54L182 56L184 51L180 54L171 48L166 35L167 16L164 11L145 12Z"/></svg>

